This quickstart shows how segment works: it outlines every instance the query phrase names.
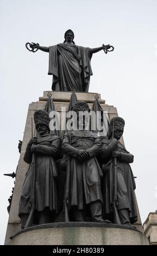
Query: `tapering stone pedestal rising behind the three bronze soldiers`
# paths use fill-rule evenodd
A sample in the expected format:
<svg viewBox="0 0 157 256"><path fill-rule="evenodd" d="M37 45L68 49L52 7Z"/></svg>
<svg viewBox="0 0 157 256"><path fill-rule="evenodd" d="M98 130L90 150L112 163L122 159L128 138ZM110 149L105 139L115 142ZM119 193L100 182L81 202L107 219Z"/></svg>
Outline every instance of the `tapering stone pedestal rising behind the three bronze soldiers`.
<svg viewBox="0 0 157 256"><path fill-rule="evenodd" d="M55 111L58 111L59 113L61 113L61 107L65 107L65 111L67 111L69 102L70 102L71 92L51 92L51 93L52 93L52 98L54 101ZM19 205L19 200L20 200L20 196L21 196L23 181L24 181L26 172L29 168L29 165L23 161L23 156L26 151L27 143L29 142L30 138L32 137L32 121L31 120L32 120L33 114L36 110L45 108L46 101L48 98L47 94L48 94L48 91L43 92L43 96L39 98L39 101L32 102L29 104L26 126L25 126L24 136L23 136L22 149L21 149L21 154L20 154L20 160L18 162L18 168L17 168L17 172L16 172L16 182L15 182L14 194L12 197L7 233L5 236L5 245L9 245L11 242L10 236L14 236L21 229L21 224L20 224L21 220L18 217L18 205ZM93 104L93 101L95 100L96 94L97 93L76 93L77 99L83 100L83 101L86 101L87 103L89 103L90 108L92 108L92 104ZM107 105L105 103L105 100L101 99L100 94L97 94L97 95L99 96L99 101L101 103L103 110L108 112L109 121L113 117L117 117L117 115L118 115L117 109L114 106ZM35 127L33 127L33 130L34 130L34 128ZM124 143L123 138L121 139L121 142ZM137 206L137 212L138 212L138 221L135 224L136 224L137 229L143 231L138 206ZM84 229L85 228L79 229L79 230L81 230L81 232L83 233ZM38 229L38 230L40 230L40 229ZM66 230L66 229L64 229L64 230ZM72 229L70 229L70 230L72 230ZM76 230L76 229L74 229L74 230ZM89 230L89 229L87 229L87 230ZM104 229L104 230L106 230L106 229ZM46 232L50 232L50 231L51 231L51 229L47 229ZM53 233L53 231L54 231L54 229L52 229L51 232ZM120 230L118 230L118 231L120 231ZM36 232L36 231L31 231L31 232ZM60 231L60 232L63 232L63 231ZM124 232L124 230L123 230L123 232ZM21 237L21 236L23 237L24 235L27 235L27 234L28 233L21 233L21 235L18 235L18 237ZM136 233L136 234L141 234L141 233ZM32 240L32 236L31 236L30 240ZM45 240L45 242L46 242L46 240Z"/></svg>

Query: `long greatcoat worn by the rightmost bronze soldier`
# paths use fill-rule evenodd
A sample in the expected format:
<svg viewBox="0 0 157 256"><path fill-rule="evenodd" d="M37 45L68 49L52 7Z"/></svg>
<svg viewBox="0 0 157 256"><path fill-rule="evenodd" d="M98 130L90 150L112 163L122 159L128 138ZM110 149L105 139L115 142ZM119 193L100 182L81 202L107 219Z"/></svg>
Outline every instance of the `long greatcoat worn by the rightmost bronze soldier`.
<svg viewBox="0 0 157 256"><path fill-rule="evenodd" d="M134 175L129 165L129 163L133 162L134 156L131 155L120 142L118 142L118 147L116 145L116 139L102 139L101 159L103 162L102 169L104 173L104 214L109 215L113 212L112 202L114 197L114 159L112 158L111 154L112 151L117 150L121 152L121 157L117 158L117 209L129 209L130 222L134 223L137 221L134 194L136 186ZM107 164L108 162L109 164Z"/></svg>

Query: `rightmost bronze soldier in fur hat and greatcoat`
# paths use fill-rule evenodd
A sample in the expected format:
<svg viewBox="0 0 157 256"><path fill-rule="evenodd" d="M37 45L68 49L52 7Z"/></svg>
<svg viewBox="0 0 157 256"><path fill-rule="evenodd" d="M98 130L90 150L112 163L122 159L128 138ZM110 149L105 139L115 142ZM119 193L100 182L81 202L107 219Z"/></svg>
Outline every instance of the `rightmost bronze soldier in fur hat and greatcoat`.
<svg viewBox="0 0 157 256"><path fill-rule="evenodd" d="M129 165L134 156L119 142L124 124L122 118L112 118L109 138L102 139L104 216L113 223L130 225L137 221L135 180Z"/></svg>

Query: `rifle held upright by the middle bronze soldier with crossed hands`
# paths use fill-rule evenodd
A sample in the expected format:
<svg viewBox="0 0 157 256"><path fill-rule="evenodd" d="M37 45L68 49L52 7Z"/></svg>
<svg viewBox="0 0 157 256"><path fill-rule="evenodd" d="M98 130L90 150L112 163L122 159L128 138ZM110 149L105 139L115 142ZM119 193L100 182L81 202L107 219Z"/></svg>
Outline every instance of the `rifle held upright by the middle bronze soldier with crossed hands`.
<svg viewBox="0 0 157 256"><path fill-rule="evenodd" d="M69 144L71 145L71 134L70 134ZM70 221L69 216L68 216L70 172L71 172L71 159L70 159L70 155L68 155L67 168L66 168L65 199L63 202L64 203L65 222Z"/></svg>

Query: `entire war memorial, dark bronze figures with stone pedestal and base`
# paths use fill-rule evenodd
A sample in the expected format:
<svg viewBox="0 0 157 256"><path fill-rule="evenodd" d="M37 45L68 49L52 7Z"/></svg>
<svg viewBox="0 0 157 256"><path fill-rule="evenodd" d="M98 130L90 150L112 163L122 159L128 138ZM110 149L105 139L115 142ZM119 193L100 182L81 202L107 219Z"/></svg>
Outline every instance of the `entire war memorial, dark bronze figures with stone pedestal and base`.
<svg viewBox="0 0 157 256"><path fill-rule="evenodd" d="M29 105L17 175L7 174L24 182L10 197L9 220L15 222L8 223L6 237L11 245L145 245L130 167L134 156L120 142L124 119L99 94L87 93L92 54L114 47L78 46L71 29L64 38L49 47L26 44L29 51L49 53L54 92Z"/></svg>

